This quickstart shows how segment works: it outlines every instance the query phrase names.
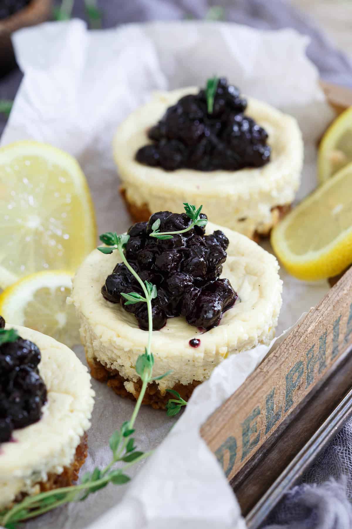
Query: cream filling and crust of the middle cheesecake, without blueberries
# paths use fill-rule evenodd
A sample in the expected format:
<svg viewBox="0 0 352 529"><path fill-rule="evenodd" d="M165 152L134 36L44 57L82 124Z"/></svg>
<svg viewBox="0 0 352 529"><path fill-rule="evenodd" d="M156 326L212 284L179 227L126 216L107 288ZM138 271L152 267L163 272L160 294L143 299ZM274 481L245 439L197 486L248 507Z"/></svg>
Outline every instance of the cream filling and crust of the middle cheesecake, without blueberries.
<svg viewBox="0 0 352 529"><path fill-rule="evenodd" d="M188 398L229 354L268 344L274 336L282 291L277 260L240 233L210 222L206 225L206 234L216 230L229 240L220 278L230 281L236 292L235 303L210 330L198 329L184 316L176 316L168 317L163 327L153 331L153 376L172 370L147 388L144 403L154 408L165 407L167 389L173 388ZM92 376L107 382L118 395L136 399L141 380L135 365L145 351L148 333L139 328L134 314L101 293L107 276L120 262L117 251L103 254L94 250L75 275L71 302L80 319L81 340Z"/></svg>

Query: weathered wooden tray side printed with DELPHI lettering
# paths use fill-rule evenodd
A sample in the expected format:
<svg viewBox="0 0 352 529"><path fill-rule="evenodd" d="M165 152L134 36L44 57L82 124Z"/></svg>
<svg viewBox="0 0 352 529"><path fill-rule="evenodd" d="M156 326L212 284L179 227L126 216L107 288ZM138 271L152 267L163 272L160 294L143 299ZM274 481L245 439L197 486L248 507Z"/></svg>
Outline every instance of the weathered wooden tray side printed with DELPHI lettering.
<svg viewBox="0 0 352 529"><path fill-rule="evenodd" d="M202 426L229 480L352 344L352 269Z"/></svg>

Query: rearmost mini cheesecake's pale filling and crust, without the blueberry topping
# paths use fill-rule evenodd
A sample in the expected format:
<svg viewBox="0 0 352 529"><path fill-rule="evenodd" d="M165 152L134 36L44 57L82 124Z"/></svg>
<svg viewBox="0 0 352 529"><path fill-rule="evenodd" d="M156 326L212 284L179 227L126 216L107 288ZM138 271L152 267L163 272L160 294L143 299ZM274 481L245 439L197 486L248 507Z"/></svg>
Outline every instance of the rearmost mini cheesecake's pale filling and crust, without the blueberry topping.
<svg viewBox="0 0 352 529"><path fill-rule="evenodd" d="M181 98L197 94L198 90L189 87L158 92L118 127L113 153L121 194L129 212L135 221L146 221L151 212L176 211L184 202L203 204L211 221L216 220L252 239L268 234L290 208L300 185L303 143L297 121L292 116L251 97L246 99L247 106L241 116L255 120L262 127L260 130L268 135L270 161L265 154L267 162L262 167L208 170L204 156L199 162L203 170L165 170L144 165L136 159L142 147L152 144L148 133L168 109ZM197 144L185 148L195 151L196 147Z"/></svg>

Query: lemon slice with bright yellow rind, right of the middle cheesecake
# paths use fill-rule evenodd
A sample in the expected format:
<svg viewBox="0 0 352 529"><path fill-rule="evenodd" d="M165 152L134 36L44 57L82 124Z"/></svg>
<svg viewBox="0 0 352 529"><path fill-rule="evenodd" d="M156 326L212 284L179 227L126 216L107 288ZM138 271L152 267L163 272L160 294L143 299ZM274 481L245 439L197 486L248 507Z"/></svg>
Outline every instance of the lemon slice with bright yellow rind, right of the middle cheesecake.
<svg viewBox="0 0 352 529"><path fill-rule="evenodd" d="M318 187L271 232L271 244L299 279L336 276L352 263L352 163Z"/></svg>

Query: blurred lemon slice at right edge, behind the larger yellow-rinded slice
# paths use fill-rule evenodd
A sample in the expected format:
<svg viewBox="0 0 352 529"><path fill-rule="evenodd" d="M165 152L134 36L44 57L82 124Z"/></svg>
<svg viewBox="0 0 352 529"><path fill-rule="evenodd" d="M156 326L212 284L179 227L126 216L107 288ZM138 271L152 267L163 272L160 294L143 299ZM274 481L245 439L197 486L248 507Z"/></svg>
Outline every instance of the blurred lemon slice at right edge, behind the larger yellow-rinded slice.
<svg viewBox="0 0 352 529"><path fill-rule="evenodd" d="M352 162L352 107L329 126L319 145L318 175L324 183Z"/></svg>

